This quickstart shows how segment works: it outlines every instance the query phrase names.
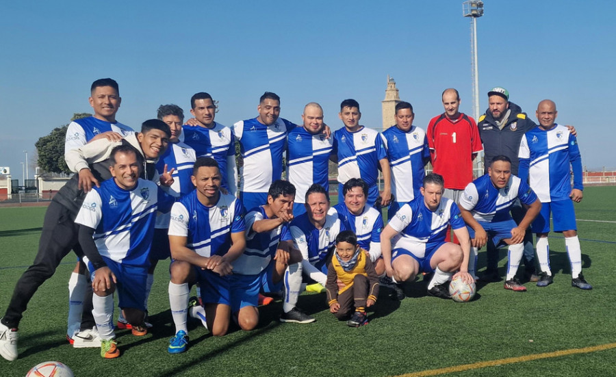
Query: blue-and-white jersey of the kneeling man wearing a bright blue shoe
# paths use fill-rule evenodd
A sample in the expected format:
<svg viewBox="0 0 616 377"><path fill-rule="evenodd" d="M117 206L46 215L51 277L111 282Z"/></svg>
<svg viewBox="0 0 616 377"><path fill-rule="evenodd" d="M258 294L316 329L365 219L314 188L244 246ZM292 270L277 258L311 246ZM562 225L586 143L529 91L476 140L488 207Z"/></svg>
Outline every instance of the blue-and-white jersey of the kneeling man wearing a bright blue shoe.
<svg viewBox="0 0 616 377"><path fill-rule="evenodd" d="M205 207L193 190L171 208L169 235L187 237L186 247L201 257L227 254L231 233L244 231L244 207L231 194L220 193L216 205Z"/></svg>

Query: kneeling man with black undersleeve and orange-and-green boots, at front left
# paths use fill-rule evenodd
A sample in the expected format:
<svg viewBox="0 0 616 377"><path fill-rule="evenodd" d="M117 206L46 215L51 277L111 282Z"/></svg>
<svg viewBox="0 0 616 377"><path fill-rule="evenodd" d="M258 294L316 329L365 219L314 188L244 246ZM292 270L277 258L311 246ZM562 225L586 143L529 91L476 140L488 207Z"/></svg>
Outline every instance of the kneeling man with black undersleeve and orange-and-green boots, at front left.
<svg viewBox="0 0 616 377"><path fill-rule="evenodd" d="M105 359L120 356L114 341L116 287L133 335L147 333L144 302L156 211L168 212L175 201L152 181L139 178L144 161L133 146L116 146L110 162L114 178L88 192L75 218L79 244L89 259L92 315Z"/></svg>

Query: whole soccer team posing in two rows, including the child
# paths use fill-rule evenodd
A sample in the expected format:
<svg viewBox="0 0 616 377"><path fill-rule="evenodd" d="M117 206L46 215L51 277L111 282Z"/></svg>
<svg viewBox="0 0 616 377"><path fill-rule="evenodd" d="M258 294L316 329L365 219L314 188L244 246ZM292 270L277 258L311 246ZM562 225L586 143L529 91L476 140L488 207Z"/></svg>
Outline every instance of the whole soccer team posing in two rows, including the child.
<svg viewBox="0 0 616 377"><path fill-rule="evenodd" d="M0 320L0 354L17 358L23 312L70 250L79 261L68 283L67 339L75 348L101 348L104 358L120 355L114 328L148 332L153 272L168 258L176 328L170 353L188 348L189 312L212 335L224 335L233 322L252 330L264 294L281 293L282 322L305 324L314 318L296 307L298 296L324 291L331 313L349 326L367 323L379 287L402 300L403 284L418 274L428 295L450 298L452 278L478 279L483 246L485 281L502 280L496 248L506 246L504 288L526 291L516 276L522 261L524 282L546 287L553 282L550 213L553 230L565 236L572 286L591 289L573 205L582 200L575 129L555 123L550 100L539 103L535 125L504 88L490 90L488 99L477 124L459 112L457 90L447 89L445 112L426 130L413 125L411 104L400 102L396 125L382 133L360 125L359 103L347 99L339 112L344 127L331 133L318 103L308 103L303 125L294 125L279 117L272 92L259 99L256 118L225 127L214 120L216 102L199 92L186 124L180 107L161 105L157 119L135 132L116 121L116 81L94 81L94 116L71 122L66 133L64 157L77 174L47 209L36 259ZM481 151L485 175L473 181ZM338 167L333 207L329 161ZM192 285L198 300L189 297Z"/></svg>

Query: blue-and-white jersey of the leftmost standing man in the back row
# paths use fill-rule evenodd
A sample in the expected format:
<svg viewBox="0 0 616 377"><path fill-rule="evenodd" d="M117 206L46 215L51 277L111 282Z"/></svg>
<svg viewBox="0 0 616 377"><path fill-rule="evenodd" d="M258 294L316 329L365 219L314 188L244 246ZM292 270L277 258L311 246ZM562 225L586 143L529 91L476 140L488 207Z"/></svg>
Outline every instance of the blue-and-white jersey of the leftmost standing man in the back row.
<svg viewBox="0 0 616 377"><path fill-rule="evenodd" d="M120 122L105 122L105 120L94 118L94 116L75 119L73 122L70 122L68 129L66 129L66 138L64 139L64 155L66 156L66 152L71 149L77 149L86 145L99 133L107 131L114 131L122 136L135 133L131 127L123 125Z"/></svg>

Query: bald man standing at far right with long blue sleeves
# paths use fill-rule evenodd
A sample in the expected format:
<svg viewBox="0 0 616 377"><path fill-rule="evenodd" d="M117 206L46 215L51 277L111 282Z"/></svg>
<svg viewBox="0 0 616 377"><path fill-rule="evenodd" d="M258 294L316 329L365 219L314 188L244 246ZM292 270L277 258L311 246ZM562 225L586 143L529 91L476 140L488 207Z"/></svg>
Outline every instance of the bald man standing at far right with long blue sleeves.
<svg viewBox="0 0 616 377"><path fill-rule="evenodd" d="M582 157L578 140L567 127L556 124L556 103L544 99L537 106L539 127L524 134L519 144L519 178L529 179L530 187L541 200L541 212L532 222L537 233L537 259L541 278L537 287L547 287L554 278L550 271L550 213L553 230L565 236L571 262L572 287L592 289L582 275L582 250L578 239L573 202L582 201ZM570 168L574 173L573 187Z"/></svg>

